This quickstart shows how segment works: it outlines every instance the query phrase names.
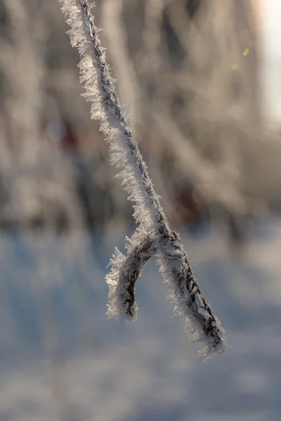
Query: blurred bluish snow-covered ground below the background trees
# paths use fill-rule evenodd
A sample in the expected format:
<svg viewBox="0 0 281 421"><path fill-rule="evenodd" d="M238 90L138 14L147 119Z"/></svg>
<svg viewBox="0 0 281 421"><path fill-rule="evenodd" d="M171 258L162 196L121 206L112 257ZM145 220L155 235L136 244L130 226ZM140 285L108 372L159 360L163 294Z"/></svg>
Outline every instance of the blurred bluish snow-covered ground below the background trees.
<svg viewBox="0 0 281 421"><path fill-rule="evenodd" d="M230 345L206 363L154 261L138 320L120 325L105 316L113 245L1 236L0 420L279 421L281 220L253 227L239 253L218 232L183 240Z"/></svg>

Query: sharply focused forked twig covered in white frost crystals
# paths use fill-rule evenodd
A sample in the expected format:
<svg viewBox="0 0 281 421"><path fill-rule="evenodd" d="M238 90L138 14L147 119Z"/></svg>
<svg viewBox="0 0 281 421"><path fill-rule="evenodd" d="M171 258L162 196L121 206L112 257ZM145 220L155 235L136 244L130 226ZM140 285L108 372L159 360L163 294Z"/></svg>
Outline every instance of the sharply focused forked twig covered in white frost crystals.
<svg viewBox="0 0 281 421"><path fill-rule="evenodd" d="M200 291L179 235L171 231L166 220L148 168L133 139L127 109L117 98L115 81L100 45L99 31L94 25L88 1L59 1L63 4L63 13L69 17L67 23L71 27L72 46L76 46L81 55L81 82L86 91L83 95L92 102L91 116L100 120L100 130L110 142L112 163L122 168L118 177L122 179L129 199L134 202L133 216L139 224L129 241L128 254L124 256L116 250L111 261L112 272L106 279L110 285L107 314L136 316L136 279L150 255L155 253L160 272L169 287L169 299L176 312L183 316L185 325L191 324L190 339L205 343L201 352L204 358L214 350L223 352L221 323Z"/></svg>

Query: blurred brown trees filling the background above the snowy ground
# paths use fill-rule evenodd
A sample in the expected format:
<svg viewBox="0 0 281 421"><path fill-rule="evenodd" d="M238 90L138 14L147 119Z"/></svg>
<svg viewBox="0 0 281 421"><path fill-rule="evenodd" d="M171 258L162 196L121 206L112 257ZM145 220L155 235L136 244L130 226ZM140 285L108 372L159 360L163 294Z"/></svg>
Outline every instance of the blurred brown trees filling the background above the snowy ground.
<svg viewBox="0 0 281 421"><path fill-rule="evenodd" d="M96 6L119 96L131 103L136 138L171 223L231 220L237 230L241 218L279 208L280 149L262 110L261 5L106 0ZM77 53L65 29L53 2L1 5L5 227L132 223L107 145L79 97Z"/></svg>

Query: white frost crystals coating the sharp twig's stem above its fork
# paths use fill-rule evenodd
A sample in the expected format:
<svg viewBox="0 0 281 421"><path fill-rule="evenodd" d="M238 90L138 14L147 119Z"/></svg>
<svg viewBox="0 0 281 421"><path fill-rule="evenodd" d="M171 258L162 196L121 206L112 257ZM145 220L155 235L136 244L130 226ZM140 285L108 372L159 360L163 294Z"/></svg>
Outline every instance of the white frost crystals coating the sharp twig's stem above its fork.
<svg viewBox="0 0 281 421"><path fill-rule="evenodd" d="M100 120L100 130L110 142L111 162L117 168L123 168L117 177L126 185L129 200L136 203L133 217L136 222L151 229L157 224L159 196L148 178L143 157L133 140L129 107L120 105L115 93L115 80L110 75L105 50L98 39L99 29L93 24L86 1L60 0L60 3L63 4L63 13L68 15L71 44L77 47L81 56L80 81L85 89L82 96L92 102L91 117Z"/></svg>

